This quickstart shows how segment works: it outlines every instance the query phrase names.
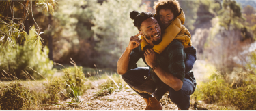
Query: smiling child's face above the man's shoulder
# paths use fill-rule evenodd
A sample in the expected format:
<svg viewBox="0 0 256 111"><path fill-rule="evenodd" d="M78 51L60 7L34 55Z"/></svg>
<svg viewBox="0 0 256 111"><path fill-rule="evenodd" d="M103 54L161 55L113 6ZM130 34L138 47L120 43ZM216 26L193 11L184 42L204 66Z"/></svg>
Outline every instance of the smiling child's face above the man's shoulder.
<svg viewBox="0 0 256 111"><path fill-rule="evenodd" d="M174 18L174 15L173 15L173 12L171 12L171 9L161 9L159 11L159 15L160 15L161 23L164 26L168 26L171 20L173 20Z"/></svg>

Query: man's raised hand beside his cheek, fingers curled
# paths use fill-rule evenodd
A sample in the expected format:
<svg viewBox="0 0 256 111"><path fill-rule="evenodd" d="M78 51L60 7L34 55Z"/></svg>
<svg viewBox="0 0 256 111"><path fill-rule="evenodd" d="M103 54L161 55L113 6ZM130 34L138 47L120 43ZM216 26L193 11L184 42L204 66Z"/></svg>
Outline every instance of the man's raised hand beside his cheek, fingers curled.
<svg viewBox="0 0 256 111"><path fill-rule="evenodd" d="M141 41L143 41L143 39L139 39L138 36L141 35L140 33L137 35L134 35L132 37L130 37L130 42L129 45L127 47L127 49L129 51L132 51L132 49L137 48L139 46L139 44L141 43Z"/></svg>

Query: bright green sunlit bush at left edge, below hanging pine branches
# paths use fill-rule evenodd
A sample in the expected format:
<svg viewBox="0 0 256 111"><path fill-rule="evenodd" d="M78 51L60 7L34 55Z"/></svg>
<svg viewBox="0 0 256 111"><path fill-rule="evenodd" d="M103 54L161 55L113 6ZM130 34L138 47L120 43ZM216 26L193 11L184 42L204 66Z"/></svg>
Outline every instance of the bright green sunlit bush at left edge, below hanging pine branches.
<svg viewBox="0 0 256 111"><path fill-rule="evenodd" d="M33 76L34 79L42 79L42 76L47 77L53 74L53 62L48 59L47 47L40 51L38 48L30 47L27 43L24 46L15 45L12 49L0 49L0 57L3 57L0 58L0 74L4 74L7 78L16 76L19 79L26 79ZM3 70L12 75L6 74ZM26 75L27 73L31 76ZM2 74L1 79L5 79Z"/></svg>

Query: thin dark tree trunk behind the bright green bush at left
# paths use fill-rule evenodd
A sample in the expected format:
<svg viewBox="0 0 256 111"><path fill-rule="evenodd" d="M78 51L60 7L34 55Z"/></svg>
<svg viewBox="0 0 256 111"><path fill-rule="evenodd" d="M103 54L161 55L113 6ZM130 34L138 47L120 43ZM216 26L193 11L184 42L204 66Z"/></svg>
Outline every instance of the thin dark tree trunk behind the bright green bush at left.
<svg viewBox="0 0 256 111"><path fill-rule="evenodd" d="M52 16L49 14L48 16L49 24L48 24L48 30L50 30L51 24L52 24ZM48 48L49 48L49 59L53 61L53 37L51 36L51 32L48 34Z"/></svg>

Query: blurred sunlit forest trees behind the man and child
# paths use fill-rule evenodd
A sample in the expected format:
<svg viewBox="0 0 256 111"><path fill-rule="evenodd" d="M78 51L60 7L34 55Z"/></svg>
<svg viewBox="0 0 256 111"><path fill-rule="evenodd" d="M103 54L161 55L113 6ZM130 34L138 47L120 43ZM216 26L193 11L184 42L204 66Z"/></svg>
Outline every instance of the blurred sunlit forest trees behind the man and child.
<svg viewBox="0 0 256 111"><path fill-rule="evenodd" d="M49 79L58 76L62 68L60 64L74 68L74 62L76 66L83 66L84 76L98 69L115 73L117 60L130 36L138 33L130 12L154 13L154 1L1 0L1 81L26 80L27 75L33 79ZM205 62L215 70L214 74L208 75L210 79L222 81L221 84L232 91L239 87L246 91L251 87L249 91L255 91L256 0L179 2L186 15L184 26L192 34L192 43L197 49L197 61ZM142 60L137 65L145 66ZM214 99L221 95L214 95L207 89L199 90L205 93L195 95L207 102L227 100ZM251 99L248 102L256 103ZM255 105L248 106L247 102L238 107L245 106L255 109Z"/></svg>

